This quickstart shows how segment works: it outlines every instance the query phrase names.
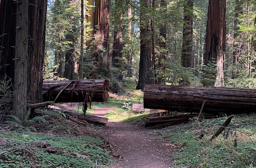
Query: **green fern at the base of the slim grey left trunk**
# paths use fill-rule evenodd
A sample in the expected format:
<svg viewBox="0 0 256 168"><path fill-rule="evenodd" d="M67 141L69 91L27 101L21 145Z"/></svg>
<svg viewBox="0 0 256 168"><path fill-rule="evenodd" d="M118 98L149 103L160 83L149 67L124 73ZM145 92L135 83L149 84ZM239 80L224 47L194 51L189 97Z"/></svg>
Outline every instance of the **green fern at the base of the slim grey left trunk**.
<svg viewBox="0 0 256 168"><path fill-rule="evenodd" d="M31 120L29 120L30 112L31 112L31 108L29 108L28 111L26 112L24 121L21 121L18 117L14 115L6 115L7 119L5 123L23 127L25 131L30 131L31 129L36 131L36 128L30 125L35 124L36 122L46 121L44 118L46 118L48 115L35 116Z"/></svg>

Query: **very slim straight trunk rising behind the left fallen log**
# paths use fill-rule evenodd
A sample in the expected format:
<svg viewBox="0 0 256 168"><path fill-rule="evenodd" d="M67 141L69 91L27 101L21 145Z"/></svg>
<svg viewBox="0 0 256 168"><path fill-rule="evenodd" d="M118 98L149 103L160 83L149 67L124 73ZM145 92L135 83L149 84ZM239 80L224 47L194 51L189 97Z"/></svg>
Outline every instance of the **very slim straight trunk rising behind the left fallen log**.
<svg viewBox="0 0 256 168"><path fill-rule="evenodd" d="M81 46L80 46L80 79L84 79L83 76L83 64L84 64L84 0L81 0Z"/></svg>

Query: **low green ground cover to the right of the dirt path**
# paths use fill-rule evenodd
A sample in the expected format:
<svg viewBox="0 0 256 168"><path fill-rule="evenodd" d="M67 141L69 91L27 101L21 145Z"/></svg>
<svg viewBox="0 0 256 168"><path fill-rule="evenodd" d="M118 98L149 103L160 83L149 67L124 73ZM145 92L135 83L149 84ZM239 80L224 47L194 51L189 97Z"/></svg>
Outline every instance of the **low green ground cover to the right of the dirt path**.
<svg viewBox="0 0 256 168"><path fill-rule="evenodd" d="M256 149L244 134L226 129L215 140L210 137L227 117L204 119L179 126L171 126L161 132L164 138L178 150L174 153L176 167L202 168L252 168ZM255 114L235 116L228 127L245 132L255 141ZM200 135L203 134L202 138ZM182 135L182 136L181 136ZM235 142L237 146L234 146Z"/></svg>

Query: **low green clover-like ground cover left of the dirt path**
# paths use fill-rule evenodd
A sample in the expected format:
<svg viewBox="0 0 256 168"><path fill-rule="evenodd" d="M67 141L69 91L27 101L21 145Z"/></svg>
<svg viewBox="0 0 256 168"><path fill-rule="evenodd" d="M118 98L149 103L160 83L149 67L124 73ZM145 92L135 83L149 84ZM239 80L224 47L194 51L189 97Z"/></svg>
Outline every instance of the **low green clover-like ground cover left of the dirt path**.
<svg viewBox="0 0 256 168"><path fill-rule="evenodd" d="M52 164L63 168L95 168L113 162L108 154L98 148L103 148L104 140L92 136L75 138L18 132L1 135L5 138L5 143L0 146L0 152L10 152L21 148L16 152L2 154L0 156L1 168L48 168L53 167ZM43 144L48 144L58 152L49 154ZM89 158L78 157L75 154L86 155Z"/></svg>

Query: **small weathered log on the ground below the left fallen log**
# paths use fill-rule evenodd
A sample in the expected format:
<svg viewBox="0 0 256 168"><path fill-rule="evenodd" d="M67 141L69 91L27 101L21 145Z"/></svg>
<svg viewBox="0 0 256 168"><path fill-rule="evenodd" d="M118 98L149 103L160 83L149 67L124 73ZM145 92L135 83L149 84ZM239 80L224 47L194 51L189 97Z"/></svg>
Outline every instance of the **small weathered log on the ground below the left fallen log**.
<svg viewBox="0 0 256 168"><path fill-rule="evenodd" d="M88 123L91 123L91 124L99 124L99 125L105 126L108 123L108 118L106 117L93 116L90 114L85 114L84 116L84 114L72 112L69 110L64 110L62 112L74 118L76 118L76 115L77 115L78 120L87 121Z"/></svg>

